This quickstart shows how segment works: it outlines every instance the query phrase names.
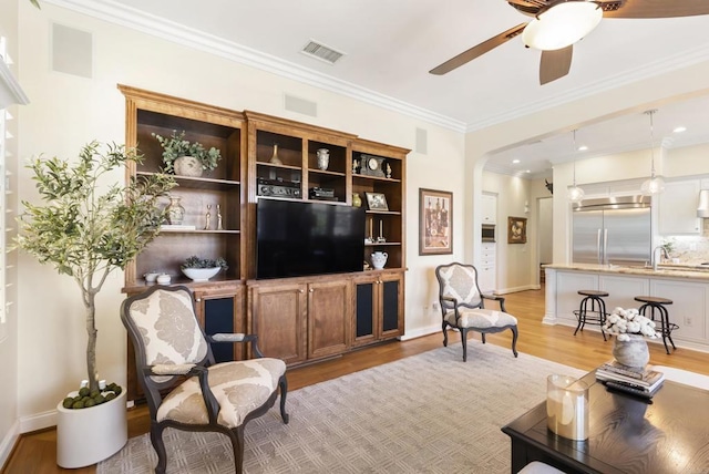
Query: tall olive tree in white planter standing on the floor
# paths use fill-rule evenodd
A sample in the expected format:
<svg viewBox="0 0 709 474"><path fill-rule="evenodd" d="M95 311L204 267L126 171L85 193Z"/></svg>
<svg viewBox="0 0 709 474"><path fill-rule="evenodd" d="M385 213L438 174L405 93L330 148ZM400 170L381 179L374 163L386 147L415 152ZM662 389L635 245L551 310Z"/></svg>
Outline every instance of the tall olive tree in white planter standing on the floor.
<svg viewBox="0 0 709 474"><path fill-rule="evenodd" d="M124 269L157 235L165 218L158 200L175 186L174 178L163 174L133 179L126 186L105 185L106 174L141 161L142 156L133 148L94 141L83 146L78 158L71 162L38 157L27 166L34 174L32 179L37 182L42 203L22 202L24 212L18 218L20 231L16 243L41 264L53 265L59 274L72 277L79 285L85 309L81 318L88 333L85 389L91 399L105 389L100 387L96 368L96 295L111 271ZM76 406L72 403L76 409L93 406L84 410L65 410L66 400L58 405L58 463L62 467L94 464L125 444L125 391L114 384L107 387L114 394L119 393L114 401L96 406L93 406L95 401L84 401ZM117 409L109 409L111 404ZM113 414L116 410L117 415ZM73 429L97 429L91 425L97 423L95 420L86 420L104 412L112 420L109 423L123 423L123 433L115 434L104 427L100 436L70 433ZM75 423L80 427L75 427ZM89 426L84 427L86 423ZM92 444L94 442L97 444Z"/></svg>

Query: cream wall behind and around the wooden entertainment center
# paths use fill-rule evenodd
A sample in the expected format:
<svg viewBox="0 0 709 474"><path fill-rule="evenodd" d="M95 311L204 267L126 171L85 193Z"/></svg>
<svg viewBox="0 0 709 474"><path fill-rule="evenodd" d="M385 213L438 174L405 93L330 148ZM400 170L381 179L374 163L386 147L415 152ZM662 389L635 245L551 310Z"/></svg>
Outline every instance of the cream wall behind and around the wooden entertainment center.
<svg viewBox="0 0 709 474"><path fill-rule="evenodd" d="M409 148L414 147L415 128L427 130L428 154L411 153L407 162L405 330L407 334L417 334L440 328L440 316L431 309L436 295L433 268L463 253L463 227L456 224L464 219L464 206L459 200L464 176L451 173L463 166L462 134L52 4L43 4L41 11L21 4L20 14L20 80L32 100L20 117L22 159L40 153L75 156L93 138L123 142L124 97L116 89L117 83L315 123ZM52 22L93 34L93 79L50 71ZM285 93L317 102L319 116L285 111ZM116 179L123 179L122 173L116 174ZM20 175L20 196L35 199L27 171ZM453 193L453 256L418 255L420 187ZM73 280L58 276L51 267L40 266L27 255L20 258L20 280L27 284L19 289L17 398L25 431L50 423L51 416L44 416L44 412L53 410L58 400L85 378L85 331L83 307ZM116 274L97 301L101 377L121 383L125 381L126 356L125 332L119 319L124 298L122 282L123 276Z"/></svg>

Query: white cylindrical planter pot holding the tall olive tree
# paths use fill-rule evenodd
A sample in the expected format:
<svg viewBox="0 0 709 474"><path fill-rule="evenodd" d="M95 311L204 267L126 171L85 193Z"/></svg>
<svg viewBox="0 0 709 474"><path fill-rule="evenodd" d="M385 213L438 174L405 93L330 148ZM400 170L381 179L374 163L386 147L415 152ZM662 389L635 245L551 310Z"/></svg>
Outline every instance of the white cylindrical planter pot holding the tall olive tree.
<svg viewBox="0 0 709 474"><path fill-rule="evenodd" d="M90 466L117 453L129 440L126 390L110 402L80 410L56 405L56 464Z"/></svg>

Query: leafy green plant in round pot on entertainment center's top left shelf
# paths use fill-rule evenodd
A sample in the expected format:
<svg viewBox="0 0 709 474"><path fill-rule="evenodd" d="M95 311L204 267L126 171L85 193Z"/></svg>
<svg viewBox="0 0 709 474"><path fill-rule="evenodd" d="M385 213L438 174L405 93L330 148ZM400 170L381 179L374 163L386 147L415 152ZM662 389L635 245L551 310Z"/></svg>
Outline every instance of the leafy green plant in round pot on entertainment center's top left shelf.
<svg viewBox="0 0 709 474"><path fill-rule="evenodd" d="M204 171L217 167L222 154L214 146L205 148L199 142L185 140L185 131L176 130L168 137L153 133L153 136L163 147L163 163L165 173L174 173L181 176L199 177Z"/></svg>

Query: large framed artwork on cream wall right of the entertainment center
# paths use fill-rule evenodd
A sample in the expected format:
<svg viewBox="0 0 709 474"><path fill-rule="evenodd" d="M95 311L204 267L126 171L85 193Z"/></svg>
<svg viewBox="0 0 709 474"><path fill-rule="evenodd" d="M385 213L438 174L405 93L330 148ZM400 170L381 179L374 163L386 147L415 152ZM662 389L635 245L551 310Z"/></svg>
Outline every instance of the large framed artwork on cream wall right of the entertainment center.
<svg viewBox="0 0 709 474"><path fill-rule="evenodd" d="M453 193L419 188L419 255L453 253Z"/></svg>

